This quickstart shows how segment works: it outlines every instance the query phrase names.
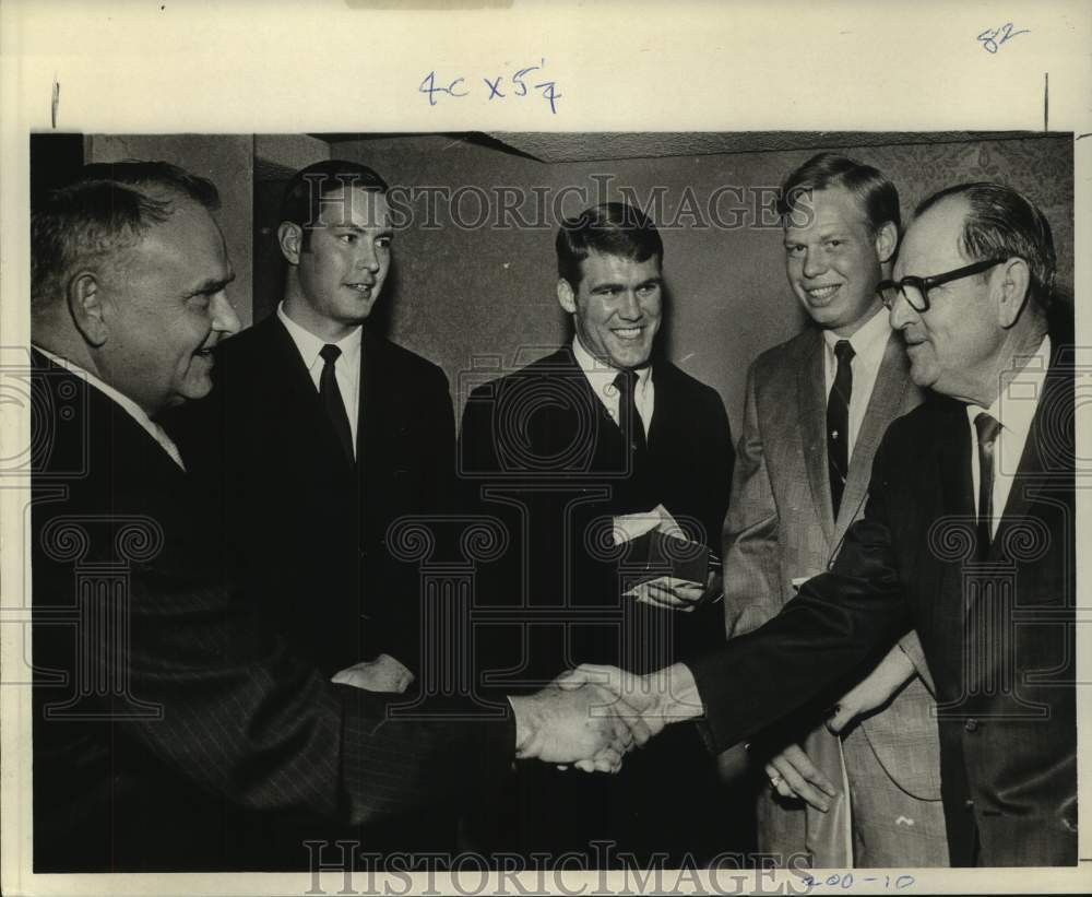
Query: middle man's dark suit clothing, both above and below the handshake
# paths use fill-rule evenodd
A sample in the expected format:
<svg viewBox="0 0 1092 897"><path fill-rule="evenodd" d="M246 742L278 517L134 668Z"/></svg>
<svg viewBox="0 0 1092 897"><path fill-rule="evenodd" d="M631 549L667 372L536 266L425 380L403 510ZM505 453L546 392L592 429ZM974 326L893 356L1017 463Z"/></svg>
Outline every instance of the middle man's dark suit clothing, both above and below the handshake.
<svg viewBox="0 0 1092 897"><path fill-rule="evenodd" d="M682 613L621 595L640 558L613 545L614 516L663 504L715 546L728 501L734 452L720 396L667 362L655 363L653 381L646 462L632 470L621 430L568 347L470 396L460 437L466 500L509 533L508 552L476 586L486 693L529 688L584 661L643 672L685 647L722 642L719 604ZM542 765L521 774L515 818L484 836L488 845L577 850L608 864L617 861L593 854L593 840L642 863L654 852L701 862L732 846L715 769L692 730L630 755L618 776L574 778Z"/></svg>

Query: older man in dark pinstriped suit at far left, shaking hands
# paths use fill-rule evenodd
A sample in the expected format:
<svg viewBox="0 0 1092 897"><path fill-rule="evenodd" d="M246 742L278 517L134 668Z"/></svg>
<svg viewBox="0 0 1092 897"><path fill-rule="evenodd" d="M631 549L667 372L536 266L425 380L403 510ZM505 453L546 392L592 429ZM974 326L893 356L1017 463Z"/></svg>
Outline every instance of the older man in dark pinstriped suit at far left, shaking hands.
<svg viewBox="0 0 1092 897"><path fill-rule="evenodd" d="M592 716L602 696L556 688L395 718L225 587L217 520L158 424L209 392L238 327L216 201L165 163L33 200L36 872L306 869L298 841L271 853L272 821L453 812L513 755L613 768L630 743Z"/></svg>

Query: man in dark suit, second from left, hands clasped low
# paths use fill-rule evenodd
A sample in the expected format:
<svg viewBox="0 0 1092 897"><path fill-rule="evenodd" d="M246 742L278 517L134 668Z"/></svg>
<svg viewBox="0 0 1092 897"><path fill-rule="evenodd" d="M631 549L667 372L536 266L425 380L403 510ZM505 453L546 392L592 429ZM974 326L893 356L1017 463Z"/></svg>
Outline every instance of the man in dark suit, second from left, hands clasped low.
<svg viewBox="0 0 1092 897"><path fill-rule="evenodd" d="M391 264L387 185L333 160L289 181L276 314L216 351L210 400L177 422L223 505L233 571L328 674L401 692L418 673L417 571L388 550L402 515L446 508L447 378L367 324ZM216 500L213 500L215 506Z"/></svg>

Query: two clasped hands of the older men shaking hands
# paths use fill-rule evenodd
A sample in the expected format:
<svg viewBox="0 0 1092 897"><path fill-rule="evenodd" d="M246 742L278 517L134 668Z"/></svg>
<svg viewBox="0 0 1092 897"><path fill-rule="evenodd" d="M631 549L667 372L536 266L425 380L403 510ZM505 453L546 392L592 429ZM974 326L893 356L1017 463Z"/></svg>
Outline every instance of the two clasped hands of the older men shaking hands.
<svg viewBox="0 0 1092 897"><path fill-rule="evenodd" d="M585 772L617 772L622 757L669 722L698 717L701 699L682 664L644 676L583 664L533 695L509 697L515 756Z"/></svg>

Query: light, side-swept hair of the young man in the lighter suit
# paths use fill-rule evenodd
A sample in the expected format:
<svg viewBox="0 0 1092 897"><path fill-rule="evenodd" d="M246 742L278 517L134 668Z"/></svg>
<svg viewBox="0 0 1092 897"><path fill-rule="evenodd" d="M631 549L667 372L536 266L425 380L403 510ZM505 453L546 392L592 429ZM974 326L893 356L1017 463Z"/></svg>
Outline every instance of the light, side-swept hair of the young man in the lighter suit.
<svg viewBox="0 0 1092 897"><path fill-rule="evenodd" d="M854 196L874 233L889 221L902 229L899 191L894 185L878 168L834 153L814 155L788 175L781 188L778 213L787 219L802 199L810 202L816 190L832 187L841 187Z"/></svg>

